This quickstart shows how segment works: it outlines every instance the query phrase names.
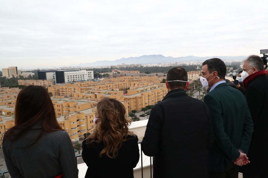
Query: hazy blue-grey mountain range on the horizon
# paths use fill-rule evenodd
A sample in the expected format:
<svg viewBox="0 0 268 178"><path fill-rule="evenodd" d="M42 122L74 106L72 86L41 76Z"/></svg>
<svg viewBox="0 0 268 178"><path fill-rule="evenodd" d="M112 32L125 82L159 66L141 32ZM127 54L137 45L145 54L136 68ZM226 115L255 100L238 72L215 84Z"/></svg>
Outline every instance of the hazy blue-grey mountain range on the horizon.
<svg viewBox="0 0 268 178"><path fill-rule="evenodd" d="M220 58L222 60L243 60L246 56L206 56L206 57L198 57L198 56L181 56L177 58L173 58L172 56L165 57L162 54L158 55L143 55L139 57L129 57L129 58L121 58L114 61L110 60L101 60L90 63L80 63L77 66L79 67L88 67L88 66L110 66L110 65L118 65L118 64L151 64L151 63L168 63L168 62L202 62L206 59L211 58Z"/></svg>

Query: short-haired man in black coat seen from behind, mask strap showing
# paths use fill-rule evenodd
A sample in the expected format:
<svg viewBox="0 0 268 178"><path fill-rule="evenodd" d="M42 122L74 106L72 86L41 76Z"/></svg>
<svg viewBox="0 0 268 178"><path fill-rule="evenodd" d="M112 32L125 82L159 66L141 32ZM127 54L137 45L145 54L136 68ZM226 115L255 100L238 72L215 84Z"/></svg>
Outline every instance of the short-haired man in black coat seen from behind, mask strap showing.
<svg viewBox="0 0 268 178"><path fill-rule="evenodd" d="M209 108L187 96L182 67L167 74L168 93L151 110L142 141L143 153L154 156L154 178L208 177L207 147L213 144Z"/></svg>

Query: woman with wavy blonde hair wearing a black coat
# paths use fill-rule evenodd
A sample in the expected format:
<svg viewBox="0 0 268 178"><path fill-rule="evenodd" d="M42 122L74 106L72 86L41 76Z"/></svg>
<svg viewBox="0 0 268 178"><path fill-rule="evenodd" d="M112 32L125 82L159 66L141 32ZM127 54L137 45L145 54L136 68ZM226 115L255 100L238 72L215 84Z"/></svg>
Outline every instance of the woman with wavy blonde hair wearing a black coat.
<svg viewBox="0 0 268 178"><path fill-rule="evenodd" d="M124 105L116 99L102 99L94 122L94 132L82 144L82 158L88 166L85 177L133 178L140 154L137 136L128 131L131 120Z"/></svg>

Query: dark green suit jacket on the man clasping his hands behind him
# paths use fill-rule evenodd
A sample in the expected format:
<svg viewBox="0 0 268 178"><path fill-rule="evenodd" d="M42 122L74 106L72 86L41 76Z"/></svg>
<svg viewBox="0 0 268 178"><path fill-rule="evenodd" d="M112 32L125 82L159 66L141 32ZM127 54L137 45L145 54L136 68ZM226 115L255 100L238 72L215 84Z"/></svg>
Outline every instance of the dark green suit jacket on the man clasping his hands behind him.
<svg viewBox="0 0 268 178"><path fill-rule="evenodd" d="M227 83L217 85L204 97L209 106L216 142L208 150L208 169L223 172L248 152L253 122L245 96Z"/></svg>

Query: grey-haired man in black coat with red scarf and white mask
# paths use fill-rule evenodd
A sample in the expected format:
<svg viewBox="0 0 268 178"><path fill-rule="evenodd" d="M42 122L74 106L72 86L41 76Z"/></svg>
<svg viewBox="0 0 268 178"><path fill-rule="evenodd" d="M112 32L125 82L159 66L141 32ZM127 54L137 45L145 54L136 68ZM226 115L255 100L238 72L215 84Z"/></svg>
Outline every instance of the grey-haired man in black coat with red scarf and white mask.
<svg viewBox="0 0 268 178"><path fill-rule="evenodd" d="M243 178L268 177L268 78L262 59L251 55L244 61L243 85L254 123L254 132L248 152L250 164L241 167Z"/></svg>

